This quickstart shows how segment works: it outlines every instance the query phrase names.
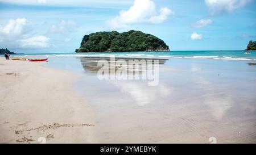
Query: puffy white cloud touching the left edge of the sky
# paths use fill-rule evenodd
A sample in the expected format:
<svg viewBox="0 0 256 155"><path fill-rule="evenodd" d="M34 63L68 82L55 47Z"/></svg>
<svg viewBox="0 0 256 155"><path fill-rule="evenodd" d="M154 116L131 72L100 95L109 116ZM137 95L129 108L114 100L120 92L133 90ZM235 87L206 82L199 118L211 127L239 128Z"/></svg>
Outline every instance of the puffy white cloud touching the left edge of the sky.
<svg viewBox="0 0 256 155"><path fill-rule="evenodd" d="M24 32L24 26L26 26L26 18L10 19L6 26L0 25L0 35L2 36L16 36L21 35Z"/></svg>

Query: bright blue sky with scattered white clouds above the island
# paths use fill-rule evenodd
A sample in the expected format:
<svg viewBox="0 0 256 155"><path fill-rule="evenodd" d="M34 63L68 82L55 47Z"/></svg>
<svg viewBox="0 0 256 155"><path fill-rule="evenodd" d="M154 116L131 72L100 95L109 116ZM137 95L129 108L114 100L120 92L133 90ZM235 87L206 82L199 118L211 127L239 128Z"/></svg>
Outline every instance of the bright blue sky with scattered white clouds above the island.
<svg viewBox="0 0 256 155"><path fill-rule="evenodd" d="M129 30L172 51L243 50L256 0L0 0L0 48L16 53L71 53L84 35Z"/></svg>

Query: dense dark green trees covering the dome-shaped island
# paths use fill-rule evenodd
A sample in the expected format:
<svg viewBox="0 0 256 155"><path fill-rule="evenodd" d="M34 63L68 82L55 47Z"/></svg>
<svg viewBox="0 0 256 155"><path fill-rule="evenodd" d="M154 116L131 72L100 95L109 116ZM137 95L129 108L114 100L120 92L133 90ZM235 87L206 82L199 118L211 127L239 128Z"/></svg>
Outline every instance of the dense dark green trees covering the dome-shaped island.
<svg viewBox="0 0 256 155"><path fill-rule="evenodd" d="M170 51L169 47L150 34L131 30L118 33L96 32L85 35L81 47L76 52L132 52L132 51Z"/></svg>

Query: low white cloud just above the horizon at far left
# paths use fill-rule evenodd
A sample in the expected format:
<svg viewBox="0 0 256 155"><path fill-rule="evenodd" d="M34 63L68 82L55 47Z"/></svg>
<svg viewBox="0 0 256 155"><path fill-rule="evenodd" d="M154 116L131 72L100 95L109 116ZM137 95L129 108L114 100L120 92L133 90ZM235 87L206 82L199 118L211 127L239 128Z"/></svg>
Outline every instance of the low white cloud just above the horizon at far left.
<svg viewBox="0 0 256 155"><path fill-rule="evenodd" d="M20 40L21 47L48 47L49 38L46 36L33 36Z"/></svg>

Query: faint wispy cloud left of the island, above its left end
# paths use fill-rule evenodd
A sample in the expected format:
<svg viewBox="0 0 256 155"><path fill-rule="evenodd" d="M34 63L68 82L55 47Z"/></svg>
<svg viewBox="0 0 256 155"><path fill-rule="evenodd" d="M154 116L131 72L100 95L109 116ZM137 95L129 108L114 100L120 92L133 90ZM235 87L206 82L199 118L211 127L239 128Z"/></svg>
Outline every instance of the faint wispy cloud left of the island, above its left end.
<svg viewBox="0 0 256 155"><path fill-rule="evenodd" d="M78 26L73 20L61 20L60 23L53 25L48 32L49 33L70 33L75 32Z"/></svg>

